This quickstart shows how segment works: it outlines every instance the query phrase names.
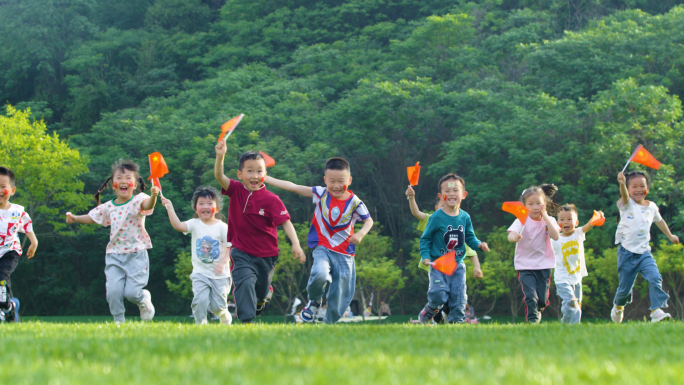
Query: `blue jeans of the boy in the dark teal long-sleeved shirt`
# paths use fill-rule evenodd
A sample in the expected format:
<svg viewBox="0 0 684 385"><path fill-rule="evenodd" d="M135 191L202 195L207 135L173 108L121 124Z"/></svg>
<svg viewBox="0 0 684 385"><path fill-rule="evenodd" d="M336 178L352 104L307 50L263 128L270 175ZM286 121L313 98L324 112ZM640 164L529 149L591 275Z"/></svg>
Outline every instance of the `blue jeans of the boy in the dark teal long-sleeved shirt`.
<svg viewBox="0 0 684 385"><path fill-rule="evenodd" d="M465 305L468 302L465 284L465 264L458 264L451 276L430 268L430 288L428 289L428 305L433 309L440 309L445 303L449 304L449 318L447 322L463 323L465 320Z"/></svg>

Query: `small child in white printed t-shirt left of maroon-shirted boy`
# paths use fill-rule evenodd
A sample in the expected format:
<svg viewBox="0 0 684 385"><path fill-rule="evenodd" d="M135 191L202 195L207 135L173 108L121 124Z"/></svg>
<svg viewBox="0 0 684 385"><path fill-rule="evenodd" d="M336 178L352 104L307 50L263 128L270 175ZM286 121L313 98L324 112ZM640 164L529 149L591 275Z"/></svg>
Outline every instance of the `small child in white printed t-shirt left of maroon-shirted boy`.
<svg viewBox="0 0 684 385"><path fill-rule="evenodd" d="M230 246L228 225L216 218L221 209L221 195L212 187L200 187L192 196L192 208L198 218L181 222L171 201L162 199L174 229L192 234L192 314L195 324L207 323L207 309L218 316L221 323L233 321L228 312L227 298L232 285L230 277Z"/></svg>

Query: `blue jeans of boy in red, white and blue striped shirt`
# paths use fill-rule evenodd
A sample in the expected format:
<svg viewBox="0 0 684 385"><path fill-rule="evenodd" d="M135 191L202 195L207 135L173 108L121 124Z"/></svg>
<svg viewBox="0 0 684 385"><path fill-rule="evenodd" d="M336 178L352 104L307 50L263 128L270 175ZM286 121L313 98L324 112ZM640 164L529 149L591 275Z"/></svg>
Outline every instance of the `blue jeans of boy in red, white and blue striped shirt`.
<svg viewBox="0 0 684 385"><path fill-rule="evenodd" d="M325 285L330 285L326 296L328 310L323 322L332 324L342 317L354 297L356 285L354 257L318 246L313 251L313 259L306 291L309 293L309 300L321 303Z"/></svg>

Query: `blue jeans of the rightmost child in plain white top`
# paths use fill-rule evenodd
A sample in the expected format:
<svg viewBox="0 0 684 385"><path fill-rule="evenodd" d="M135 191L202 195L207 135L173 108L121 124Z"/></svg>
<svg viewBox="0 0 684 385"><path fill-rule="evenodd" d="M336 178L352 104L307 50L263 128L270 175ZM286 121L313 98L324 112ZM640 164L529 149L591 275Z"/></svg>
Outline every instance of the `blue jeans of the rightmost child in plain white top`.
<svg viewBox="0 0 684 385"><path fill-rule="evenodd" d="M648 281L651 311L667 307L667 299L670 296L663 291L663 277L658 271L658 265L656 265L651 252L634 254L622 245L618 247L618 278L620 283L613 303L617 306L632 303L632 288L634 288L637 273L641 273L641 276Z"/></svg>

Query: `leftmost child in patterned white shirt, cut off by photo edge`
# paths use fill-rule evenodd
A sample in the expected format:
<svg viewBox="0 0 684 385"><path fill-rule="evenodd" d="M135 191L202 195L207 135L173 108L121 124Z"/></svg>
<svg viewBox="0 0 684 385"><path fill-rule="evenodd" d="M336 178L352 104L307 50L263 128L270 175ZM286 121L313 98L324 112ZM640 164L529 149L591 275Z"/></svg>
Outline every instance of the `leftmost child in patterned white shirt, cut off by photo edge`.
<svg viewBox="0 0 684 385"><path fill-rule="evenodd" d="M21 257L19 233L26 234L31 241L26 250L29 259L33 258L38 247L28 213L22 206L9 201L16 192L14 172L7 167L0 167L0 323L12 322L16 315L10 275Z"/></svg>

